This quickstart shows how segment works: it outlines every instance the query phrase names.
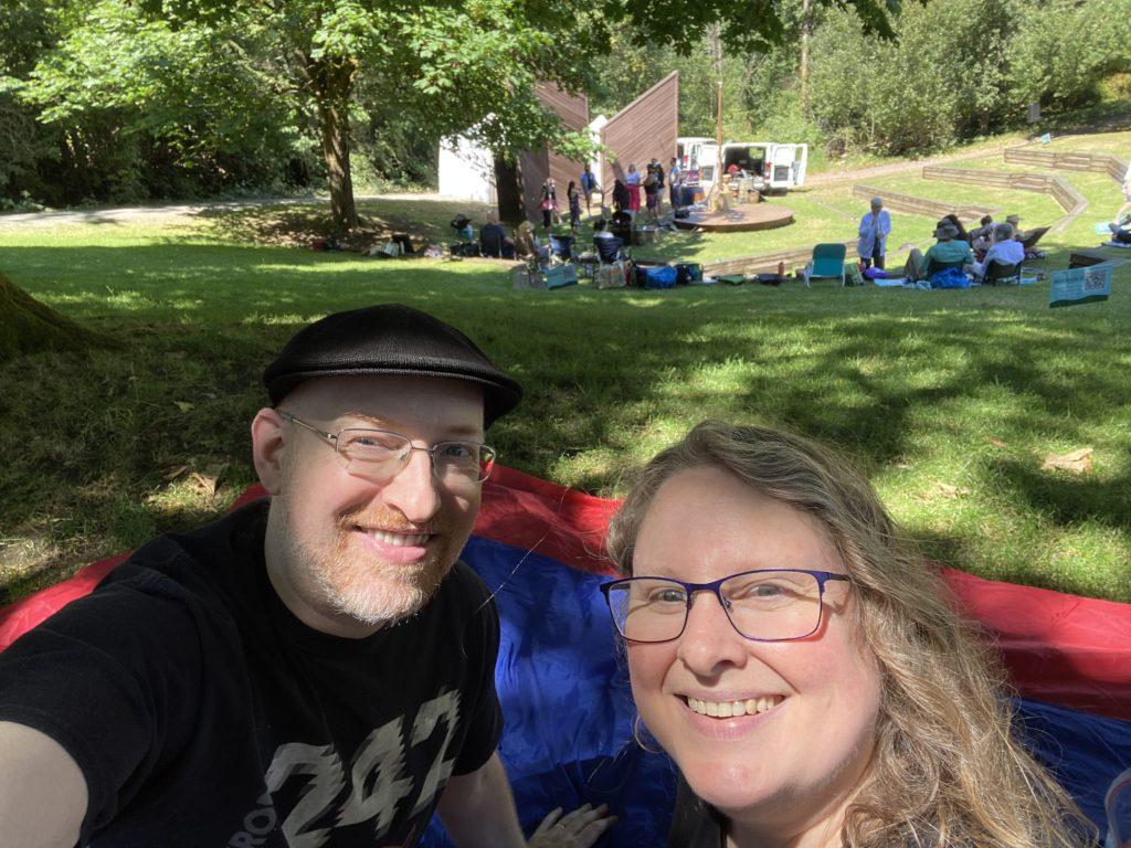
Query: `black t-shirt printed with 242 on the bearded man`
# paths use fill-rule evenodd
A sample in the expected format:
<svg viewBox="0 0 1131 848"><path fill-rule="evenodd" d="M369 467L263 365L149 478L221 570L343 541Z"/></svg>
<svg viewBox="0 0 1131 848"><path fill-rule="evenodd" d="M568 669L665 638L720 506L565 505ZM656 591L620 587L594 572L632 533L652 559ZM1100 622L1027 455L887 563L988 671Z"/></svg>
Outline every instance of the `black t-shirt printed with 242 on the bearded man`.
<svg viewBox="0 0 1131 848"><path fill-rule="evenodd" d="M502 717L499 620L457 563L366 639L308 628L264 563L266 502L163 536L0 655L0 720L86 778L81 845L412 846Z"/></svg>

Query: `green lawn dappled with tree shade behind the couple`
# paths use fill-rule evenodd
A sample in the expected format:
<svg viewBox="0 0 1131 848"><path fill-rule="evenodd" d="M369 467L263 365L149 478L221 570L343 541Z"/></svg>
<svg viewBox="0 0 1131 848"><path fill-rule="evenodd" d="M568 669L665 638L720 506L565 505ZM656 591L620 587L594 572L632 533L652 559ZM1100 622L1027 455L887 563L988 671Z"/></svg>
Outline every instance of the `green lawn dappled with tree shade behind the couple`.
<svg viewBox="0 0 1131 848"><path fill-rule="evenodd" d="M1117 202L1114 182L1065 175L1095 209ZM877 182L1059 217L1029 192ZM849 239L863 211L847 187L775 202L798 223L672 235L657 253L709 259ZM386 201L363 213L390 226L420 219L417 232L442 236L456 209ZM1043 242L1046 269L1096 243L1091 217ZM0 271L124 341L0 366L0 597L222 511L253 479L248 423L273 353L327 312L398 301L465 329L526 384L527 400L491 433L511 466L618 495L630 467L703 417L786 426L849 453L939 560L1131 599L1131 266L1107 303L1053 311L1047 284L516 292L489 262L249 242L277 218L268 209L179 227L0 231ZM933 224L893 223L892 244L925 241ZM1079 447L1095 451L1090 474L1042 469L1047 453ZM185 469L218 470L218 492Z"/></svg>

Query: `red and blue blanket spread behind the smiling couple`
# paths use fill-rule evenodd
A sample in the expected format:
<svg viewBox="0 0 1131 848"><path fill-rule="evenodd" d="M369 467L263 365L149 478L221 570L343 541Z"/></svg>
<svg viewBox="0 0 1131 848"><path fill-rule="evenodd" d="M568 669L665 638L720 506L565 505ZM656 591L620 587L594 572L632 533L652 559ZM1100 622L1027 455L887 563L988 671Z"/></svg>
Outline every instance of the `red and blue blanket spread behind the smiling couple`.
<svg viewBox="0 0 1131 848"><path fill-rule="evenodd" d="M252 487L238 503L261 495ZM499 607L499 750L524 827L556 806L607 803L620 819L606 848L664 845L675 789L667 758L633 741L627 668L597 588L616 505L497 466L464 550ZM0 649L122 559L0 611ZM1019 730L1102 825L1104 793L1131 765L1131 604L943 576L1004 657ZM423 845L450 842L434 822Z"/></svg>

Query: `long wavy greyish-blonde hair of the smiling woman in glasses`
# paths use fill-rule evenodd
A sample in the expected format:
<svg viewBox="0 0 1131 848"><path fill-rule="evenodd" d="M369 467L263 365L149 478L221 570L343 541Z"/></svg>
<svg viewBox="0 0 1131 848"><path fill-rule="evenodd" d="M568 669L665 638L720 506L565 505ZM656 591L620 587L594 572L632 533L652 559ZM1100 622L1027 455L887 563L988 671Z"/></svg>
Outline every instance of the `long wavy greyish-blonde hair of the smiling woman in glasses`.
<svg viewBox="0 0 1131 848"><path fill-rule="evenodd" d="M852 848L1069 848L1096 832L1018 743L996 656L955 611L936 570L899 537L863 475L824 448L703 422L637 476L610 527L625 576L645 513L679 471L709 466L817 518L860 599L855 630L881 675L877 746L846 811Z"/></svg>

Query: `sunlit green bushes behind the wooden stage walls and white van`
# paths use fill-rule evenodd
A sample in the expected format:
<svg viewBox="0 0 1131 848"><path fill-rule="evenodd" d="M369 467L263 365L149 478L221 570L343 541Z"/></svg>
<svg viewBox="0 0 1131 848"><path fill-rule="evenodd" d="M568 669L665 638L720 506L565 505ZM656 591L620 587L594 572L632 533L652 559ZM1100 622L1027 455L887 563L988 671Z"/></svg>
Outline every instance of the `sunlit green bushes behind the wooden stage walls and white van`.
<svg viewBox="0 0 1131 848"><path fill-rule="evenodd" d="M783 41L723 61L727 138L822 144L834 152L927 152L1086 106L1131 70L1126 0L926 0L907 3L895 38L870 34L856 11L815 9L808 107L800 90L801 0L779 0ZM680 70L680 128L715 135L708 40L688 55L641 47L627 34L598 61L592 102L612 114Z"/></svg>

